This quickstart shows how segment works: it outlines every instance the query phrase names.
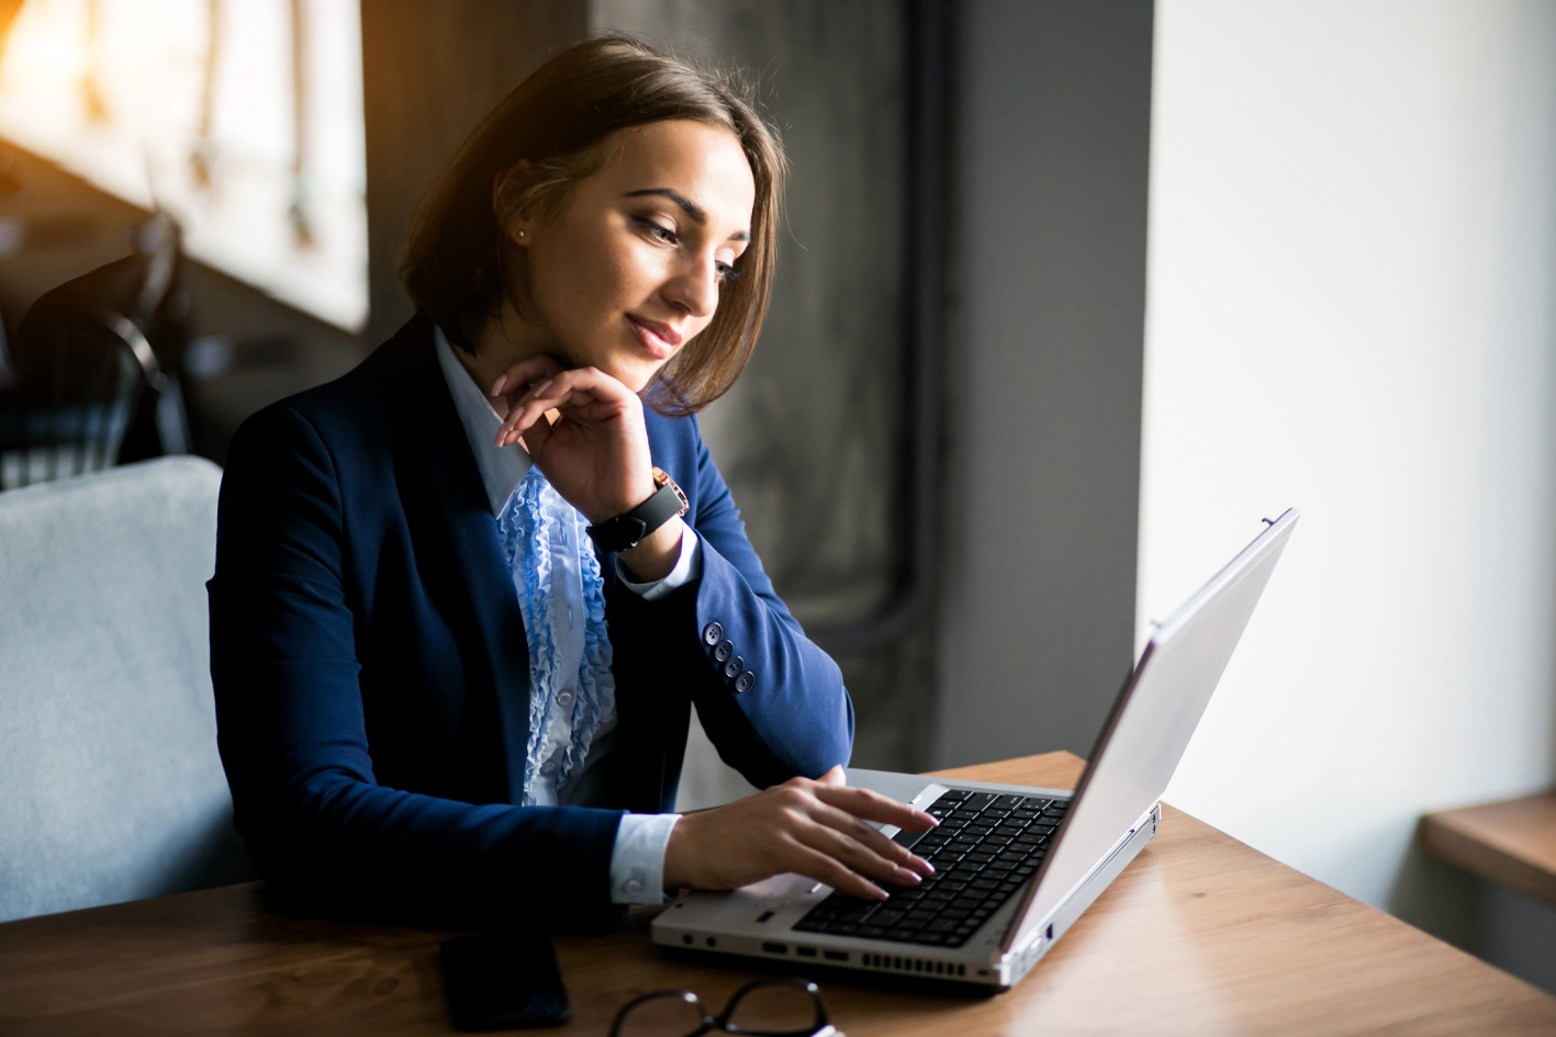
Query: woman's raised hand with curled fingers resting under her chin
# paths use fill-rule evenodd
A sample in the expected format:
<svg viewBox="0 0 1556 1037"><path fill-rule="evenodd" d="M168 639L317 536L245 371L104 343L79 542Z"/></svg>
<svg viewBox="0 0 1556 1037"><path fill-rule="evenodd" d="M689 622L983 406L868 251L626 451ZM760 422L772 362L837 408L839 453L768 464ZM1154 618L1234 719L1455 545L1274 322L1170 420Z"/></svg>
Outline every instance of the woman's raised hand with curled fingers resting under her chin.
<svg viewBox="0 0 1556 1037"><path fill-rule="evenodd" d="M562 498L590 522L604 522L654 496L654 460L643 423L643 401L594 367L563 368L532 356L492 386L507 400L496 445L520 438ZM546 417L555 410L555 421ZM682 521L671 519L636 547L621 552L640 580L669 575L680 553Z"/></svg>

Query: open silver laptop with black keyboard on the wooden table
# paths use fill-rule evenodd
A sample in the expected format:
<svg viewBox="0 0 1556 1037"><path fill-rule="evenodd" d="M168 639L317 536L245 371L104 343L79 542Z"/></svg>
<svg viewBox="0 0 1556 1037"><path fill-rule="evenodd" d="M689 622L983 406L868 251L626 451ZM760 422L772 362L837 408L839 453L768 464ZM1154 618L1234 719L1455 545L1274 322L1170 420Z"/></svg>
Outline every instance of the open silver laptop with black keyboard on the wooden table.
<svg viewBox="0 0 1556 1037"><path fill-rule="evenodd" d="M1291 508L1265 519L1268 529L1156 628L1074 793L850 770L850 785L940 818L924 833L882 829L934 863L934 875L885 886L892 897L879 903L795 874L689 891L654 920L654 942L705 961L1008 990L1156 835L1158 798L1298 518Z"/></svg>

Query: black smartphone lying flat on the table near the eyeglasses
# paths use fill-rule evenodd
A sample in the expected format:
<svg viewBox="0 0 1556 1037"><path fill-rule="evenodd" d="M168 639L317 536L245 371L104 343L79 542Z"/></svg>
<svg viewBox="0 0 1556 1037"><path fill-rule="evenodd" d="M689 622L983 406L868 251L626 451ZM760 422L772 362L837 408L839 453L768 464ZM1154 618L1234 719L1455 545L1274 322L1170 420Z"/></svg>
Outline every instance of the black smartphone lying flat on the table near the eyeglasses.
<svg viewBox="0 0 1556 1037"><path fill-rule="evenodd" d="M456 936L439 953L454 1029L560 1026L573 1018L545 933Z"/></svg>

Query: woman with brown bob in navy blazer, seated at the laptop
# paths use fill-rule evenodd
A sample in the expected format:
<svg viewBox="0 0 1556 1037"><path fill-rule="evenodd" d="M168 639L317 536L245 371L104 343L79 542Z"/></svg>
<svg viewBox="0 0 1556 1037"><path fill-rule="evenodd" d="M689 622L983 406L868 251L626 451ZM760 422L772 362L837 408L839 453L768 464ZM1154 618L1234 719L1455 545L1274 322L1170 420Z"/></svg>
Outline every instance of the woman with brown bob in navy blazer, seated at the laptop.
<svg viewBox="0 0 1556 1037"><path fill-rule="evenodd" d="M274 889L593 925L786 871L876 899L929 874L867 821L932 819L843 787L842 676L692 417L756 340L781 163L728 87L626 39L569 48L423 202L417 316L238 431L212 675ZM767 791L669 813L692 703Z"/></svg>

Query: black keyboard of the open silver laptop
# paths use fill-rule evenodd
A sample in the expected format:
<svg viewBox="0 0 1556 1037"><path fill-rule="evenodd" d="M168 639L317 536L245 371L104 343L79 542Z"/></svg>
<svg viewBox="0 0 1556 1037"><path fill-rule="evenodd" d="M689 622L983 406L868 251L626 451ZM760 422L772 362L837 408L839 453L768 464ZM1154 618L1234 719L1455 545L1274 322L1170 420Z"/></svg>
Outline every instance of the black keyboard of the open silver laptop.
<svg viewBox="0 0 1556 1037"><path fill-rule="evenodd" d="M893 836L929 860L934 875L912 889L885 886L890 900L834 892L794 928L960 947L1038 871L1067 807L1067 799L954 788L929 807L929 813L940 818L938 829Z"/></svg>

